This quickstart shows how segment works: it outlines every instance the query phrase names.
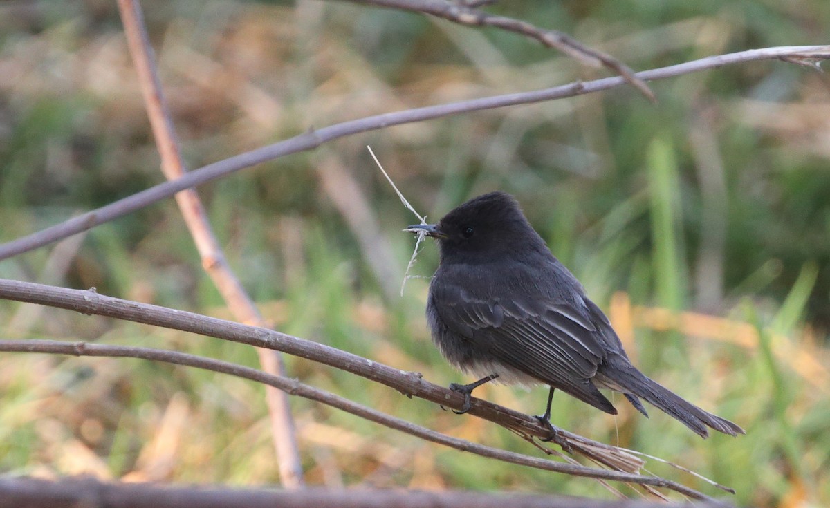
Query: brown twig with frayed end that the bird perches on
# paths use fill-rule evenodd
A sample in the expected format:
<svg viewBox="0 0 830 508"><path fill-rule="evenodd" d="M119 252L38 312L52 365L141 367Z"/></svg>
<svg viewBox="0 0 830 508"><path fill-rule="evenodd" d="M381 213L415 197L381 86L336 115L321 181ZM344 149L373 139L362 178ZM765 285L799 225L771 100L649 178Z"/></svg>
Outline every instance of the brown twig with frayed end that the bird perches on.
<svg viewBox="0 0 830 508"><path fill-rule="evenodd" d="M276 330L242 325L183 310L168 309L159 305L120 300L111 296L100 295L93 290L71 290L32 282L0 279L0 298L76 310L85 315L104 315L145 325L162 326L173 330L232 340L241 344L276 349L283 353L294 354L385 384L408 397L422 398L448 408L458 409L464 404L464 398L461 394L437 384L429 383L422 379L421 374L393 369L388 365L380 364L356 354L283 334ZM550 429L541 425L537 418L479 398L472 398L469 413L509 428L523 437L551 437ZM623 452L617 447L596 442L555 427L553 434L559 438L559 442L564 443L564 447L572 452L588 457L590 460L611 469L633 472L637 471L642 465L642 460Z"/></svg>

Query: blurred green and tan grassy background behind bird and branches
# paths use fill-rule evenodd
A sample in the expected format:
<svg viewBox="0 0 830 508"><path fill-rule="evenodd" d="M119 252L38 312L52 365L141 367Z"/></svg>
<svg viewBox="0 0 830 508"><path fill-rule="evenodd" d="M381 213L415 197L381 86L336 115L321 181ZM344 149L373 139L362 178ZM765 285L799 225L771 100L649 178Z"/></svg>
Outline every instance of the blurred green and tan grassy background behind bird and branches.
<svg viewBox="0 0 830 508"><path fill-rule="evenodd" d="M608 76L515 34L346 2L144 2L190 168L344 120ZM500 2L636 70L828 43L830 2ZM621 398L562 396L554 423L678 462L754 506L830 504L830 81L783 61L359 134L199 188L228 261L279 330L435 383L427 279L398 295L419 212L513 193L609 310L635 363L747 436L702 441ZM0 3L0 241L163 181L115 2ZM427 244L414 273L437 264ZM0 276L230 317L173 200L0 262ZM614 298L613 295L617 294ZM622 302L611 305L611 302ZM630 302L633 306L627 305ZM661 310L685 312L659 319ZM716 330L705 315L723 318ZM0 302L2 335L256 354L169 330ZM290 374L459 437L535 450L476 418L301 359ZM4 354L0 470L261 485L279 481L263 390L127 359ZM546 390L481 388L540 413ZM292 400L307 481L609 497L595 481L447 450ZM198 432L188 432L198 429ZM657 462L648 468L717 491ZM632 494L627 487L623 491Z"/></svg>

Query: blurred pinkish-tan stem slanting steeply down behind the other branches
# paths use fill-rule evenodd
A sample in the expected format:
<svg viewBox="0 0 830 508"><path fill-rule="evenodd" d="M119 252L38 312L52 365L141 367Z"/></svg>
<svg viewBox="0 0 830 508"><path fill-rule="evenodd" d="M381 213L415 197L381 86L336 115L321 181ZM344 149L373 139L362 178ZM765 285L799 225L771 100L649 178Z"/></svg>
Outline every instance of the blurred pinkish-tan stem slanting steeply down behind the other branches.
<svg viewBox="0 0 830 508"><path fill-rule="evenodd" d="M125 36L133 57L135 70L139 75L141 94L150 125L153 129L156 146L162 161L162 171L168 180L181 177L186 170L178 147L176 131L169 112L164 90L157 72L153 47L144 26L144 14L138 0L119 0L118 7L124 23ZM227 302L237 320L249 325L265 326L259 310L251 297L247 295L242 283L237 279L227 264L222 247L219 247L210 222L207 221L202 201L193 188L177 193L176 203L182 212L193 242L202 258L202 266L211 277L213 284ZM262 369L267 373L285 374L285 364L281 355L270 349L257 348ZM294 420L291 406L285 393L275 388L266 387L266 402L271 417L271 438L280 468L280 479L286 488L298 488L303 485L303 469L300 460L300 448L297 446Z"/></svg>

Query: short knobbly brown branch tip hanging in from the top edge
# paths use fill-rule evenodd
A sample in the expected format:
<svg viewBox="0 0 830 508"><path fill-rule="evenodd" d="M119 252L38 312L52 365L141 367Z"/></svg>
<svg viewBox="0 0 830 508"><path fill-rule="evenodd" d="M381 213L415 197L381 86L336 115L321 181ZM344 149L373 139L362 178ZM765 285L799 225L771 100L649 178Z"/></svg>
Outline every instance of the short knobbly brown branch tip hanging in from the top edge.
<svg viewBox="0 0 830 508"><path fill-rule="evenodd" d="M347 0L353 3L364 3L380 7L390 7L402 11L423 12L432 16L441 17L447 21L465 25L467 27L496 27L506 32L514 32L541 42L546 47L562 51L565 55L581 61L589 66L606 66L634 85L648 100L656 102L654 92L645 81L637 77L631 67L618 61L613 56L585 46L564 32L545 30L533 24L512 17L498 16L479 10L471 3L454 3L447 0Z"/></svg>

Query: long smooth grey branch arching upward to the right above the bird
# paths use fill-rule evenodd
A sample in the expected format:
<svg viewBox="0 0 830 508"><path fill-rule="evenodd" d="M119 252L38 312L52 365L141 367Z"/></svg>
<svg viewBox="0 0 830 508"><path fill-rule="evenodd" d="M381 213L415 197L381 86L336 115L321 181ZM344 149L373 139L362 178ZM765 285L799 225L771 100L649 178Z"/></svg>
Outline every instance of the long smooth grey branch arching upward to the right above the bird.
<svg viewBox="0 0 830 508"><path fill-rule="evenodd" d="M662 80L675 76L682 76L691 72L715 69L722 66L745 63L759 60L786 59L830 59L830 46L779 46L740 51L727 55L707 56L700 60L687 61L675 66L667 66L651 71L637 72L637 77L644 81ZM562 99L608 90L625 84L623 77L614 76L593 81L575 81L569 85L555 86L543 90L535 90L516 94L494 95L482 99L462 100L442 105L431 105L413 110L403 110L394 113L384 113L358 120L349 120L339 124L330 125L323 129L310 129L305 134L297 135L290 139L284 139L275 144L253 149L244 154L235 155L229 159L208 164L202 169L185 173L181 178L172 182L159 183L127 198L120 199L91 212L85 212L77 217L72 217L47 227L46 229L20 237L11 242L0 244L0 261L22 252L28 252L37 247L43 247L56 242L61 238L85 231L104 222L123 217L131 212L149 206L185 188L195 187L203 183L221 178L227 174L234 173L240 169L250 168L256 164L277 159L288 154L295 154L305 150L315 149L332 139L339 139L351 134L359 134L369 130L383 129L393 125L411 124L424 120L433 120L450 115L460 115L471 111L492 110L511 105L532 104L544 100Z"/></svg>

